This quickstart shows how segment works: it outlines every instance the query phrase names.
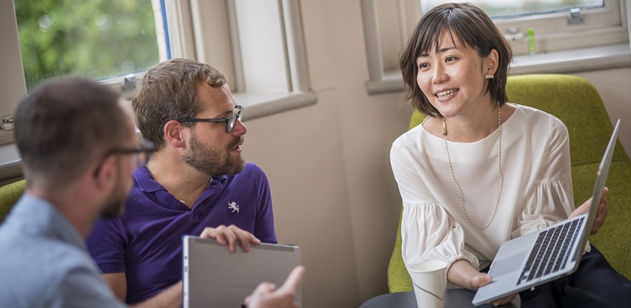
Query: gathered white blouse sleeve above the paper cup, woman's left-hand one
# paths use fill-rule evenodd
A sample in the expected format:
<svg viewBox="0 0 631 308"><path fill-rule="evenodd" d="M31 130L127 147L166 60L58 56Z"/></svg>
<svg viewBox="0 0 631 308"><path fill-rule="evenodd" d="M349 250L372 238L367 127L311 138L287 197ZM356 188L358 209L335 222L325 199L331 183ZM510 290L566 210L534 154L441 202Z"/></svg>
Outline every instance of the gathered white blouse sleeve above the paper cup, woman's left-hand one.
<svg viewBox="0 0 631 308"><path fill-rule="evenodd" d="M480 262L464 249L462 227L437 203L407 205L401 222L402 255L406 267L426 260L441 260L447 269L467 260L476 269Z"/></svg>

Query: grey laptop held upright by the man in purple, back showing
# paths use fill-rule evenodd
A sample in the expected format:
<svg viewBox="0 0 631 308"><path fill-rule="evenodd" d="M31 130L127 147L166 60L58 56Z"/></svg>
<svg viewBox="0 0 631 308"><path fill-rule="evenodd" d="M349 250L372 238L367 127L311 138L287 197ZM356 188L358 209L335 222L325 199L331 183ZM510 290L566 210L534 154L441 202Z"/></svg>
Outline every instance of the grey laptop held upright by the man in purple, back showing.
<svg viewBox="0 0 631 308"><path fill-rule="evenodd" d="M184 307L240 308L261 282L280 287L300 265L300 248L262 243L231 253L216 240L186 235L183 244ZM302 303L302 289L296 300Z"/></svg>

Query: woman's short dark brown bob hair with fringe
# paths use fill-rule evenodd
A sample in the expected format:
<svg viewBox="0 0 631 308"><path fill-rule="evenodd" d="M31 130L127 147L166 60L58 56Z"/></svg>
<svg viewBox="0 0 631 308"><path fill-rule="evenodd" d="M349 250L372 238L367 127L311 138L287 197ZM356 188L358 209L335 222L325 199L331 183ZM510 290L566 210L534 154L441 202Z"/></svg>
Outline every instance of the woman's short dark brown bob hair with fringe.
<svg viewBox="0 0 631 308"><path fill-rule="evenodd" d="M495 77L489 79L487 91L490 91L497 106L506 103L505 86L512 50L490 17L472 4L442 4L419 20L414 33L399 53L399 66L406 86L404 100L411 101L415 109L428 116L442 117L417 85L417 58L438 49L443 31L457 37L464 47L474 48L480 58L489 56L492 49L497 51L497 71Z"/></svg>

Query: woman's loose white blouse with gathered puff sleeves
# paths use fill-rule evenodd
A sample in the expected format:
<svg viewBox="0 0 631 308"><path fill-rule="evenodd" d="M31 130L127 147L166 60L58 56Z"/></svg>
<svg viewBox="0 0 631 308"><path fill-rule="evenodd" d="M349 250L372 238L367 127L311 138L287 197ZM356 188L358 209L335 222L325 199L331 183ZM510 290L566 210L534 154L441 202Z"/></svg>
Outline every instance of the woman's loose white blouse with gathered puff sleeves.
<svg viewBox="0 0 631 308"><path fill-rule="evenodd" d="M479 226L487 225L495 207L498 135L495 130L473 143L447 141L464 208ZM500 202L485 230L469 222L458 202L443 138L418 125L394 141L390 163L403 200L407 267L464 259L480 270L503 242L565 220L575 208L567 128L527 106L517 105L502 124Z"/></svg>

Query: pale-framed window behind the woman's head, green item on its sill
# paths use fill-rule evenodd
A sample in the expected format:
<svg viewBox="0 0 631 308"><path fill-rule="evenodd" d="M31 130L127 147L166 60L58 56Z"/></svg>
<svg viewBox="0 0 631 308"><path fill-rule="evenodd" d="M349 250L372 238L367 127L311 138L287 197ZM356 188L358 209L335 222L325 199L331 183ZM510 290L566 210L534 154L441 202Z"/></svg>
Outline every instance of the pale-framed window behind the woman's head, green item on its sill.
<svg viewBox="0 0 631 308"><path fill-rule="evenodd" d="M422 12L444 2L452 1L362 0L369 93L402 89L398 53ZM510 41L516 55L511 73L569 73L629 65L624 0L470 2L485 9ZM530 55L529 29L535 56Z"/></svg>

